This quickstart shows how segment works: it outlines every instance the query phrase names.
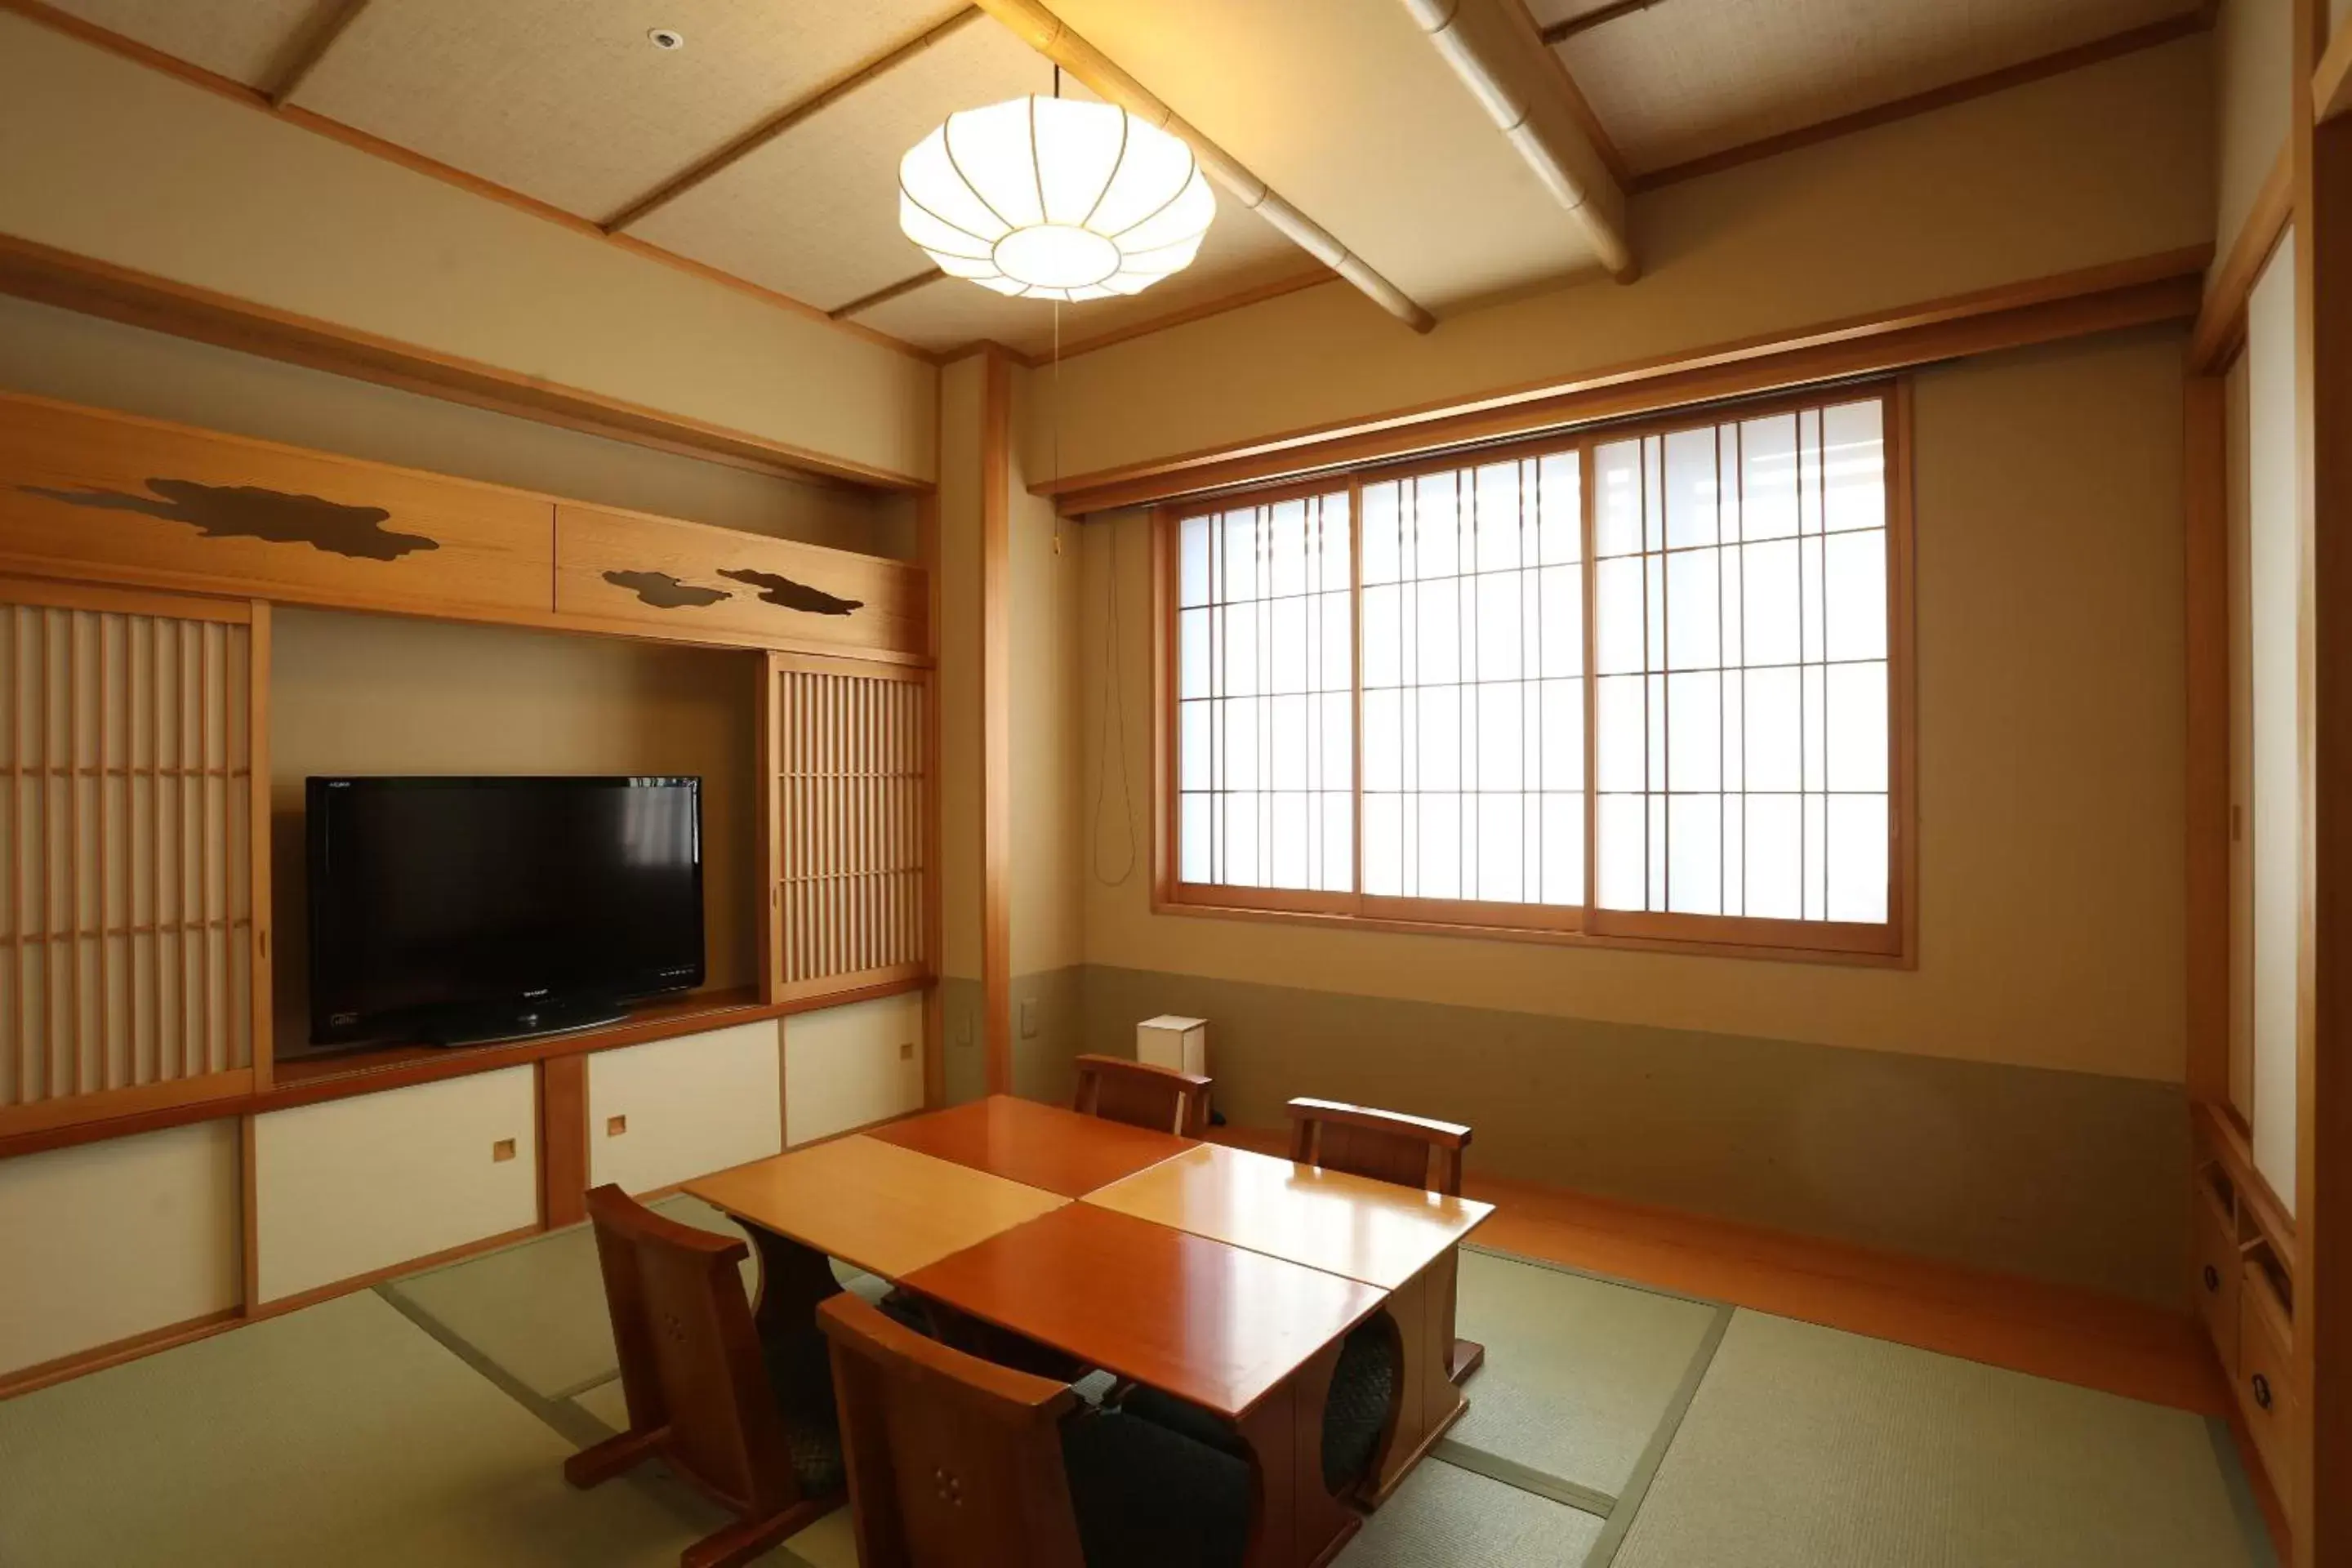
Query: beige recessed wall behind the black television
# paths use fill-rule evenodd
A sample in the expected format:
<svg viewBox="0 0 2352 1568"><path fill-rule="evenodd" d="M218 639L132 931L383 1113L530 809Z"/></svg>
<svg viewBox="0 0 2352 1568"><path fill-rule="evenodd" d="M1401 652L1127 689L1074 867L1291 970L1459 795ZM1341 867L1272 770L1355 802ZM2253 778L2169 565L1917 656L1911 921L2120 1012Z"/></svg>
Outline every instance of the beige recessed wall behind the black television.
<svg viewBox="0 0 2352 1568"><path fill-rule="evenodd" d="M753 983L757 701L755 654L275 611L270 882L280 1051L308 1039L303 778L310 773L699 773L710 985Z"/></svg>

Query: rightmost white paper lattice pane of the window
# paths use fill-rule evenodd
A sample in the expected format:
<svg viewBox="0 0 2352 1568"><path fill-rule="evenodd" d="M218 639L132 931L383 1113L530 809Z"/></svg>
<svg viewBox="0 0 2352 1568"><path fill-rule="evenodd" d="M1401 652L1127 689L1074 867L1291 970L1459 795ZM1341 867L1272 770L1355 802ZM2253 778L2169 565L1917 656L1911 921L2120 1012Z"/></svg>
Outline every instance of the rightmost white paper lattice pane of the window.
<svg viewBox="0 0 2352 1568"><path fill-rule="evenodd" d="M1595 893L1889 919L1882 402L1595 447Z"/></svg>

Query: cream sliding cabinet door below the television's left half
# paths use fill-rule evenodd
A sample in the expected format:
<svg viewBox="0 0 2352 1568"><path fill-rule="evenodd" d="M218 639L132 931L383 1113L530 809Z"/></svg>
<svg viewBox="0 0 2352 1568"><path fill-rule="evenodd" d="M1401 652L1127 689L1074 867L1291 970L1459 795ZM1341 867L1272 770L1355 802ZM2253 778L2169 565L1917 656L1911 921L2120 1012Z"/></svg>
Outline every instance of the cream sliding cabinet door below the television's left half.
<svg viewBox="0 0 2352 1568"><path fill-rule="evenodd" d="M539 1227L532 1067L252 1119L254 1302Z"/></svg>

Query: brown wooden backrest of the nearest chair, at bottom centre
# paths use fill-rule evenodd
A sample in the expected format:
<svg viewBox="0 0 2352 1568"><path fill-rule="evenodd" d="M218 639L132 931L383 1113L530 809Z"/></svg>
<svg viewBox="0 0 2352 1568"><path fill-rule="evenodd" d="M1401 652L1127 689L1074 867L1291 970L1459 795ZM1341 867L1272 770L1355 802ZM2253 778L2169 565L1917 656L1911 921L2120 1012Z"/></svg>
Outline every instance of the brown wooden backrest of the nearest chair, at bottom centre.
<svg viewBox="0 0 2352 1568"><path fill-rule="evenodd" d="M927 1340L856 1295L816 1321L866 1568L1084 1568L1061 1458L1070 1385Z"/></svg>

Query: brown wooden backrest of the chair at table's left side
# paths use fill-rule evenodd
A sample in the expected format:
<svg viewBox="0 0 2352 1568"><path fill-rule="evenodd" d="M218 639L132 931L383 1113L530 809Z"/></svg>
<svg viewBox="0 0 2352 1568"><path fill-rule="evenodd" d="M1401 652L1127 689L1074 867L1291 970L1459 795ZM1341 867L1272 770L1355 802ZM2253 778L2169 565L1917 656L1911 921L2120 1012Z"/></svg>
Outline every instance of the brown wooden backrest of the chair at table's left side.
<svg viewBox="0 0 2352 1568"><path fill-rule="evenodd" d="M614 1185L588 1194L630 1432L720 1500L771 1514L797 1497L783 1418L743 1300L741 1237L680 1225Z"/></svg>

